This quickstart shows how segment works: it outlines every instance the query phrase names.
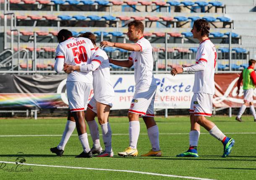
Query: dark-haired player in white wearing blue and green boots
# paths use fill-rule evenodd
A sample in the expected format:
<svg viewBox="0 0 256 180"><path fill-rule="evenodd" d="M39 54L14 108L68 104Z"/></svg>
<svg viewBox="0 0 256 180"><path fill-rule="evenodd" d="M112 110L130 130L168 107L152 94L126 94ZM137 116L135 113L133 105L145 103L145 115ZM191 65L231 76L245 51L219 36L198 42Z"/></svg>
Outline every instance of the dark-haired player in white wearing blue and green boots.
<svg viewBox="0 0 256 180"><path fill-rule="evenodd" d="M217 59L217 52L209 37L210 25L206 20L195 20L191 33L193 38L200 41L196 52L196 64L190 67L173 68L171 74L183 72L195 72L193 86L193 97L190 106L191 131L189 132L188 151L177 155L177 157L198 157L197 145L200 134L200 125L204 127L213 137L224 145L222 157L230 154L235 140L226 137L219 128L205 117L212 116L212 98L214 95L214 71Z"/></svg>

